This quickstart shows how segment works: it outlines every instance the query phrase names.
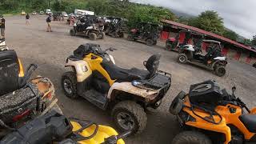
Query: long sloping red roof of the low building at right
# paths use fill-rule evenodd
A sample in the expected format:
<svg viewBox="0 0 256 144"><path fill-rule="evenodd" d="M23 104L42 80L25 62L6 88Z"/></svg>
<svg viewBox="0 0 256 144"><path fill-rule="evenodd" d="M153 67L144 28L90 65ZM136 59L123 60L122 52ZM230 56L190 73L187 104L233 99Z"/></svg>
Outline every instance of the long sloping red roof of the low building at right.
<svg viewBox="0 0 256 144"><path fill-rule="evenodd" d="M233 45L235 45L235 46L241 47L241 48L243 48L243 49L256 52L256 50L251 49L250 46L245 46L245 45L243 45L243 44L241 44L241 43L239 43L239 42L235 42L235 41L233 41L233 40L231 40L231 39L229 39L229 38L224 38L224 37L222 37L222 36L220 36L220 35L218 35L218 34L213 34L213 33L209 32L209 31L206 31L206 30L201 30L201 29L198 29L198 28L193 27L193 26L187 26L187 25L184 25L184 24L182 24L182 23L173 22L173 21L170 21L170 20L162 20L161 22L163 22L163 23L168 23L168 24L170 24L170 25L182 27L182 28L189 29L189 30L194 30L194 31L196 31L196 32L198 32L198 33L206 34L206 35L208 35L208 36L210 36L210 37L221 39L221 40L224 41L224 42L229 42L229 43L231 43L231 44L233 44Z"/></svg>

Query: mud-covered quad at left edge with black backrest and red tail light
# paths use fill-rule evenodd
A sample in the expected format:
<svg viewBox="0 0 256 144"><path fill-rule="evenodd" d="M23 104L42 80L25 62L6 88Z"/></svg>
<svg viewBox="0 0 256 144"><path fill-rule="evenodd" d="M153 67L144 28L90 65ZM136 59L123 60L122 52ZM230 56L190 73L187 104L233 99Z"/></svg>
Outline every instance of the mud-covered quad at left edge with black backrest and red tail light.
<svg viewBox="0 0 256 144"><path fill-rule="evenodd" d="M30 75L38 66L26 71L14 50L0 50L0 138L24 122L58 108L54 85L49 78Z"/></svg>

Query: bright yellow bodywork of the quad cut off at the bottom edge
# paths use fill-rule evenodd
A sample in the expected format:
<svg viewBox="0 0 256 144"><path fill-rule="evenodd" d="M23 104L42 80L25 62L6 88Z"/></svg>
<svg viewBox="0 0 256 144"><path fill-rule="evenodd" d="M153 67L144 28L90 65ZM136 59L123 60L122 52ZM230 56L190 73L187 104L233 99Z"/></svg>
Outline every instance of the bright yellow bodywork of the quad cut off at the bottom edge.
<svg viewBox="0 0 256 144"><path fill-rule="evenodd" d="M73 131L77 131L82 128L82 126L78 122L71 121L71 124L73 126ZM78 133L78 134L81 134L84 137L88 137L94 133L95 127L96 127L95 125L92 125L92 126L86 128L85 130L82 130L82 132ZM78 143L100 144L100 143L104 142L105 138L109 138L112 135L118 135L118 133L112 127L98 125L98 131L93 138L90 138L90 139L84 140L84 141L79 141ZM117 144L125 144L125 142L122 139L119 139Z"/></svg>

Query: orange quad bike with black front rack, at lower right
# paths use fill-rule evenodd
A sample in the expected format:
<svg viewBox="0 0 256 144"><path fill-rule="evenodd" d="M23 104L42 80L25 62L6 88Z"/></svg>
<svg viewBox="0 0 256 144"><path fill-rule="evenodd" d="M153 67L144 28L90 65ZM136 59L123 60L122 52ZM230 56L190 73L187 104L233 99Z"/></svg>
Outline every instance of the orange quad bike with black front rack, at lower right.
<svg viewBox="0 0 256 144"><path fill-rule="evenodd" d="M190 86L189 94L182 91L170 106L183 130L173 144L256 142L256 108L249 110L240 98L220 90L214 81ZM245 109L245 110L244 110Z"/></svg>

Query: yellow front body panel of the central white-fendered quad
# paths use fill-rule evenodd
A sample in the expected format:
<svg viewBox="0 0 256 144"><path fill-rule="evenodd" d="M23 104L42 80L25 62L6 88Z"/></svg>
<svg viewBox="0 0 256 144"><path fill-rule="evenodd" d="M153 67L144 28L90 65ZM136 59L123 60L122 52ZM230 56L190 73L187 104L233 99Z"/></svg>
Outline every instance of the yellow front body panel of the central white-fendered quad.
<svg viewBox="0 0 256 144"><path fill-rule="evenodd" d="M83 60L89 63L90 69L92 71L97 70L99 73L101 73L109 82L110 86L114 84L116 80L112 80L110 78L110 74L108 74L106 70L104 70L104 68L101 65L103 59L100 56L90 53L87 54L86 57L83 58Z"/></svg>

